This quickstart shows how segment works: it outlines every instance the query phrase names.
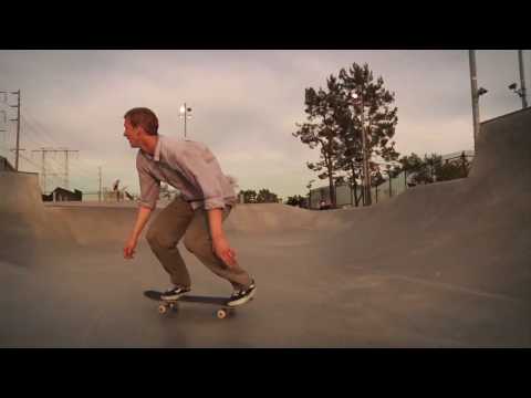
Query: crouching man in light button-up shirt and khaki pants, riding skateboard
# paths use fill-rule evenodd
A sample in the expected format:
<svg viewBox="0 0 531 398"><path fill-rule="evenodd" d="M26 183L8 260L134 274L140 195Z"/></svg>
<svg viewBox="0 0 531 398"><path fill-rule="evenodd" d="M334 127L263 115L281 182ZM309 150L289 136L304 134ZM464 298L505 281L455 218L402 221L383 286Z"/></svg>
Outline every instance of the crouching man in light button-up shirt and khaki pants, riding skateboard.
<svg viewBox="0 0 531 398"><path fill-rule="evenodd" d="M124 247L124 258L133 258L164 181L180 195L158 213L146 233L173 283L162 298L174 301L190 291L190 276L177 249L184 238L188 251L232 284L229 305L248 302L256 292L254 281L239 266L221 226L237 197L231 179L222 174L214 154L204 144L158 135L158 118L145 107L128 111L124 127L131 147L139 148L136 168L140 185L138 216Z"/></svg>

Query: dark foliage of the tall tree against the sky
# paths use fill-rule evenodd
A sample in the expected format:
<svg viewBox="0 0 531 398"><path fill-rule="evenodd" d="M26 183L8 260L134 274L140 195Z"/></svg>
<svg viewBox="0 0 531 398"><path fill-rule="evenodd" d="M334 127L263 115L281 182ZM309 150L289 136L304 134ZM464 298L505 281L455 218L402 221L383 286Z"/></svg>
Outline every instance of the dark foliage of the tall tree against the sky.
<svg viewBox="0 0 531 398"><path fill-rule="evenodd" d="M306 166L320 179L329 179L333 207L336 207L335 184L347 182L356 190L364 178L363 132L369 159L398 158L392 140L398 122L393 103L394 93L384 87L382 76L374 78L367 64L354 63L347 70L342 69L339 76L330 75L325 90L305 90L306 122L296 124L299 129L293 136L311 149L319 148L320 160ZM369 166L367 178L376 178L379 164L372 161ZM357 201L356 195L356 205Z"/></svg>

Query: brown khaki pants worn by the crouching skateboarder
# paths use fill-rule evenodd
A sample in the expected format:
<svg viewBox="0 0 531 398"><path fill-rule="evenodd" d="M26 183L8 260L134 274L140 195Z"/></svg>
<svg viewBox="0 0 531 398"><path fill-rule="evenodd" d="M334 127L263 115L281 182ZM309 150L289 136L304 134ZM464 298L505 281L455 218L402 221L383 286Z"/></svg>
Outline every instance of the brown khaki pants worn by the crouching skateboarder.
<svg viewBox="0 0 531 398"><path fill-rule="evenodd" d="M231 208L223 210L225 221ZM212 239L207 211L202 208L192 210L183 198L177 197L162 210L149 226L146 239L169 274L174 285L189 287L190 275L177 249L177 243L185 237L185 248L194 253L210 271L229 281L235 289L251 284L251 277L239 265L229 268L212 251Z"/></svg>

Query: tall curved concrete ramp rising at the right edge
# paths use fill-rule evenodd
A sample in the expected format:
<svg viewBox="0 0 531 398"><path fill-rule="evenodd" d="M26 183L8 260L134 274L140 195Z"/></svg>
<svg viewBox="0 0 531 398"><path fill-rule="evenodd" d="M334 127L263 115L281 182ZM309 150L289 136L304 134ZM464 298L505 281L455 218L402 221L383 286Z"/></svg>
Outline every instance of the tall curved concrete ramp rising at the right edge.
<svg viewBox="0 0 531 398"><path fill-rule="evenodd" d="M333 243L337 261L531 297L530 148L530 109L485 122L468 178L362 211Z"/></svg>

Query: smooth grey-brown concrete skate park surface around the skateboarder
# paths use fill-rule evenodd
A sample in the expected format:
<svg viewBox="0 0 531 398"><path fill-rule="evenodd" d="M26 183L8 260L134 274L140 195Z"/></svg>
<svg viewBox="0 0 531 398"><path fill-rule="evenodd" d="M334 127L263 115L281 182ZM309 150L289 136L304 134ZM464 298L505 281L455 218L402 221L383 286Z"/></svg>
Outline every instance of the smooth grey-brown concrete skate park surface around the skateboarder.
<svg viewBox="0 0 531 398"><path fill-rule="evenodd" d="M51 203L0 171L0 347L530 347L531 112L481 124L468 178L369 208L239 205L225 223L257 296L233 317L143 291L169 280L136 205ZM228 295L179 243L192 293Z"/></svg>

